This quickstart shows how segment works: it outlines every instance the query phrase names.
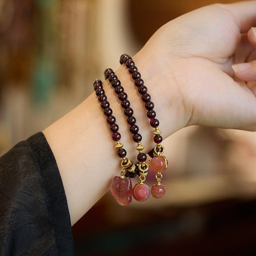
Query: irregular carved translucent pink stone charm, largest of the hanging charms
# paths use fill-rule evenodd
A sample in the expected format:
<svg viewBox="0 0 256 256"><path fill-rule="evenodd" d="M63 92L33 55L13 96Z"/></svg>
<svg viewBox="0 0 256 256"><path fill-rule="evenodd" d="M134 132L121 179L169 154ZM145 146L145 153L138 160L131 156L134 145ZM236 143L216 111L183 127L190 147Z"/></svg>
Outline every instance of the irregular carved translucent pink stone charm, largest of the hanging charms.
<svg viewBox="0 0 256 256"><path fill-rule="evenodd" d="M129 177L114 177L110 191L120 206L128 206L132 202L132 181Z"/></svg>

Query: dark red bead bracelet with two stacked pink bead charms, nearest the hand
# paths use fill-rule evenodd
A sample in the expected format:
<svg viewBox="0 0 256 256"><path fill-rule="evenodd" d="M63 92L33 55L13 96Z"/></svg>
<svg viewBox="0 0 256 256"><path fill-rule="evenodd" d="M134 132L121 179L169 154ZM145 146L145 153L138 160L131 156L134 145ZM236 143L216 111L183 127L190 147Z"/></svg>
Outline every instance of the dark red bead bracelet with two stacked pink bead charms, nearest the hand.
<svg viewBox="0 0 256 256"><path fill-rule="evenodd" d="M161 198L166 193L166 189L161 184L162 180L162 171L167 169L167 159L163 156L164 146L161 145L162 136L161 130L159 130L159 120L156 119L156 111L153 110L154 103L151 102L151 96L148 94L148 89L144 86L144 81L141 78L141 74L138 72L137 66L135 66L132 58L127 54L122 54L120 57L120 63L125 64L129 70L129 73L132 75L134 79L134 84L138 87L139 94L142 95L142 100L145 102L145 108L147 110L146 115L150 119L150 125L154 128L154 142L156 146L154 146L153 158L150 160L151 169L156 172L156 184L151 187L151 194L154 198Z"/></svg>

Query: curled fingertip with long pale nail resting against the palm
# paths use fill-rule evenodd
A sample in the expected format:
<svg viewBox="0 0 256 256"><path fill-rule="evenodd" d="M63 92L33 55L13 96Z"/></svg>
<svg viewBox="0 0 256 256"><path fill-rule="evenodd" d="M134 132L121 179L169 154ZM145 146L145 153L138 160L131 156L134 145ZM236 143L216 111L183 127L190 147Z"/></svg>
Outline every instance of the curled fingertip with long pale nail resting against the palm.
<svg viewBox="0 0 256 256"><path fill-rule="evenodd" d="M234 74L243 81L256 81L256 60L232 66Z"/></svg>

